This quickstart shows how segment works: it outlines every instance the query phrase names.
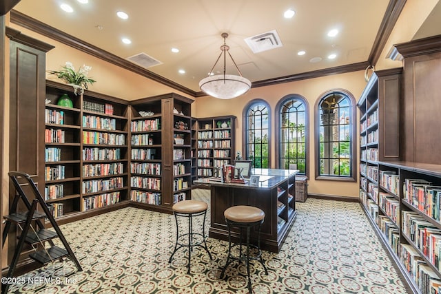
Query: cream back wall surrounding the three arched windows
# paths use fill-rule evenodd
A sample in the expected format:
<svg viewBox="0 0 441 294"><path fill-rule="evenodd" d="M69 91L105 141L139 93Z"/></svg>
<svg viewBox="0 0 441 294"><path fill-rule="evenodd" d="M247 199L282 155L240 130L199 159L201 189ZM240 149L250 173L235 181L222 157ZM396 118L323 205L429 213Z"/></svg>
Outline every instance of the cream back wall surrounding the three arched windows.
<svg viewBox="0 0 441 294"><path fill-rule="evenodd" d="M243 152L243 124L242 115L243 109L249 101L260 98L269 104L271 109L271 167L276 166L277 159L274 158L276 153L275 146L275 134L278 132L275 129L275 121L278 116L276 115L276 104L280 99L289 94L298 94L307 99L309 104L309 182L308 193L322 194L322 195L334 195L334 196L358 196L358 183L356 182L336 182L331 180L315 180L314 169L314 105L316 101L321 98L321 95L329 90L344 89L350 92L358 101L358 97L365 88L365 72L352 72L347 74L335 74L332 76L324 76L321 78L312 78L304 81L296 81L292 83L284 83L279 85L272 85L268 87L258 87L250 90L244 96L230 100L221 100L212 97L197 98L196 113L193 113L196 117L205 116L222 116L222 115L234 115L238 119L236 120L236 151ZM355 119L358 122L358 118ZM357 127L357 129L359 129ZM358 136L355 137L358 144ZM357 145L358 146L358 145ZM358 147L356 152L358 152ZM357 156L358 158L358 156ZM355 171L358 174L358 169Z"/></svg>

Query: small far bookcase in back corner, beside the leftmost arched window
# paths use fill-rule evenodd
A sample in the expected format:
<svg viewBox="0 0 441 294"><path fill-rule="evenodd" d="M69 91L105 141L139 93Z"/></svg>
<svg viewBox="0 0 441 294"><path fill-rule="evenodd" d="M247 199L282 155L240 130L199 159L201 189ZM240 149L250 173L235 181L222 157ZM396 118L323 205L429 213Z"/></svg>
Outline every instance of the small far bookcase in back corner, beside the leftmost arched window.
<svg viewBox="0 0 441 294"><path fill-rule="evenodd" d="M196 178L213 176L214 167L234 164L235 120L236 116L196 119Z"/></svg>

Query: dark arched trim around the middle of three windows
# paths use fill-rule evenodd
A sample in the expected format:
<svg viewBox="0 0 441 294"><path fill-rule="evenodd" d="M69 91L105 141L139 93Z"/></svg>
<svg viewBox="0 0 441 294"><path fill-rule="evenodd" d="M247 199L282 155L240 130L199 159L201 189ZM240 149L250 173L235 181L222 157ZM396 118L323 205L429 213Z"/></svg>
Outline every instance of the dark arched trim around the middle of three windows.
<svg viewBox="0 0 441 294"><path fill-rule="evenodd" d="M276 134L275 134L275 140L276 140L276 169L280 169L280 129L281 129L281 122L280 122L280 111L283 107L283 105L291 100L291 99L297 99L305 105L305 149L306 149L306 169L305 169L305 176L309 178L309 103L307 99L304 96L301 96L299 94L288 94L283 96L281 98L275 109L274 117L277 117L275 126L276 126Z"/></svg>

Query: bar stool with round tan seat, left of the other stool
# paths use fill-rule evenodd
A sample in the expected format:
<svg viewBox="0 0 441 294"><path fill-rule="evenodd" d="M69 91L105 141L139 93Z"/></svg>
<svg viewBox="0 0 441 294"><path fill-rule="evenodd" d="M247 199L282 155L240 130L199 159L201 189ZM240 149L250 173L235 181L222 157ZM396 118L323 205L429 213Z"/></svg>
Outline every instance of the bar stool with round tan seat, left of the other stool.
<svg viewBox="0 0 441 294"><path fill-rule="evenodd" d="M188 273L190 273L190 259L195 246L203 247L205 251L207 251L209 259L213 259L212 254L208 251L207 242L205 242L205 216L207 214L208 204L198 200L183 200L176 202L172 209L174 219L176 220L176 244L174 245L174 251L168 262L172 262L173 255L178 249L188 247ZM193 231L193 218L196 216L203 216L202 233L194 233ZM188 218L188 233L180 234L178 217ZM188 239L185 237L188 237Z"/></svg>

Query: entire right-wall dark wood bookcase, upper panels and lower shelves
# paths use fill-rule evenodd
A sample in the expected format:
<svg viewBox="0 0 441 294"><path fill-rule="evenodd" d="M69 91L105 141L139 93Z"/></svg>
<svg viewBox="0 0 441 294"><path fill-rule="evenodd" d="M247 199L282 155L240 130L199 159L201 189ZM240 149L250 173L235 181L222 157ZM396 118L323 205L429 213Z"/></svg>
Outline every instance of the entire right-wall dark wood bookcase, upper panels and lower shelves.
<svg viewBox="0 0 441 294"><path fill-rule="evenodd" d="M405 83L400 87L399 76L376 72L358 103L360 202L412 293L430 293L430 275L441 280L440 43L441 36L434 36L396 45ZM378 123L370 128L363 124L374 107ZM367 142L374 128L378 158L370 157ZM369 168L376 169L377 180Z"/></svg>

